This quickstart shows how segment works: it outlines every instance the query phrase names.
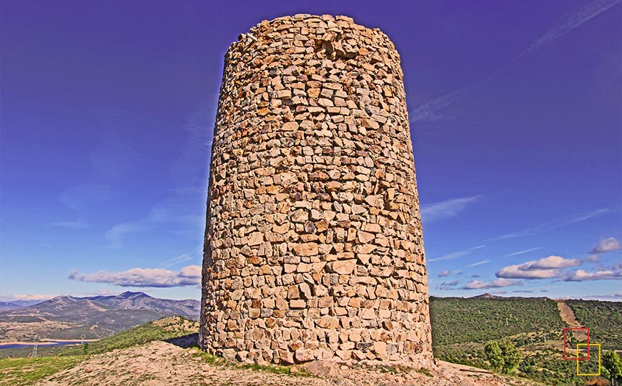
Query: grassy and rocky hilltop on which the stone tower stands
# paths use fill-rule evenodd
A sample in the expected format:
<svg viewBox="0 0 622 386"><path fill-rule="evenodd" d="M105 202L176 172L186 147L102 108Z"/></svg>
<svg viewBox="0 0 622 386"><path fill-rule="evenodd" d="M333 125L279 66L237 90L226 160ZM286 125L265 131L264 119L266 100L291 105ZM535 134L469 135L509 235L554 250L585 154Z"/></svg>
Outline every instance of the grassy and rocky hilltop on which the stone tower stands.
<svg viewBox="0 0 622 386"><path fill-rule="evenodd" d="M179 345L180 337L196 340L193 332L197 329L197 322L192 320L165 318L88 346L61 348L54 357L0 360L0 378L3 385L23 386L355 386L405 382L423 386L537 386L527 380L447 362L438 362L430 369L341 367L318 362L289 367L226 362L197 348Z"/></svg>

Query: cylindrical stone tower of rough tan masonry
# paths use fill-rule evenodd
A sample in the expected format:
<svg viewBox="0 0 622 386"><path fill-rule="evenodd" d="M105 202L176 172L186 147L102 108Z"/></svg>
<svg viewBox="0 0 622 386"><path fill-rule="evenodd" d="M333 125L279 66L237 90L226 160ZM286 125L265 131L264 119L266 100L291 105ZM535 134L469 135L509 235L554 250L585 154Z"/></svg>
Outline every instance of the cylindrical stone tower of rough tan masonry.
<svg viewBox="0 0 622 386"><path fill-rule="evenodd" d="M227 51L199 344L246 362L428 366L428 280L393 43L344 16Z"/></svg>

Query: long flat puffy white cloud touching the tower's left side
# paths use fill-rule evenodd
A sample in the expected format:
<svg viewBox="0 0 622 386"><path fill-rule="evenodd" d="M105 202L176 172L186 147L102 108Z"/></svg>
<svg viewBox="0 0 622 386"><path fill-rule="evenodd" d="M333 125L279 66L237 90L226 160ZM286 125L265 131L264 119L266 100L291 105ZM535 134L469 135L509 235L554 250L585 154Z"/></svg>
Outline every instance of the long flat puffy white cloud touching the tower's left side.
<svg viewBox="0 0 622 386"><path fill-rule="evenodd" d="M114 284L119 287L184 287L201 283L201 267L188 265L179 272L163 268L132 268L123 272L99 271L93 274L69 274L77 282Z"/></svg>

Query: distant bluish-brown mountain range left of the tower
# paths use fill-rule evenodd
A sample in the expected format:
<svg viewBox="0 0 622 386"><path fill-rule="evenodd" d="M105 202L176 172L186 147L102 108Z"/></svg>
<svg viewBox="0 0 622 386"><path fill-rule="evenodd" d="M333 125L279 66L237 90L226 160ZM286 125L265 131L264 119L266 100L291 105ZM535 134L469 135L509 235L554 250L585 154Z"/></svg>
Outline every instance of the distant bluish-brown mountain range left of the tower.
<svg viewBox="0 0 622 386"><path fill-rule="evenodd" d="M54 339L76 339L84 334L95 339L174 315L198 320L200 304L198 300L158 299L144 292L59 296L26 307L3 302L0 307L12 308L0 312L0 342L34 334Z"/></svg>

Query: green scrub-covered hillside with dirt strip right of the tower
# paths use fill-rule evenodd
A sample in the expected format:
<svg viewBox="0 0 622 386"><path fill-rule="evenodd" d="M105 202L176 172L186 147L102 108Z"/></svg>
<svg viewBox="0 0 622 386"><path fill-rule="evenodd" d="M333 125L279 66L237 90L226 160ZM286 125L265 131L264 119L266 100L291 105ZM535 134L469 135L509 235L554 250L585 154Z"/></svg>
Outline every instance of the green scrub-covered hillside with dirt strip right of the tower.
<svg viewBox="0 0 622 386"><path fill-rule="evenodd" d="M572 319L590 328L590 342L621 350L622 302L552 300L547 297L430 297L434 356L440 360L488 368L483 347L488 340L510 340L523 357L518 375L547 385L583 385L576 362L563 360L561 304ZM576 326L575 326L576 327ZM578 341L568 337L574 351ZM582 362L586 372L598 372L596 360ZM579 383L576 383L579 382Z"/></svg>

